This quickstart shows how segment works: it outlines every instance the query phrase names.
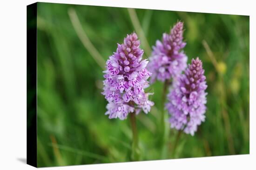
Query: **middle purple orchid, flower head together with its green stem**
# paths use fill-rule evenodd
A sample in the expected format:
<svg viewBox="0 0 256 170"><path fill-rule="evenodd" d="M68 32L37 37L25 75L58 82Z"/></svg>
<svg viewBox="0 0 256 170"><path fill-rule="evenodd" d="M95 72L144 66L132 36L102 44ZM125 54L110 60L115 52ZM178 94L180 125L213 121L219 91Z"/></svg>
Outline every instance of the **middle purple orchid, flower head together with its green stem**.
<svg viewBox="0 0 256 170"><path fill-rule="evenodd" d="M164 145L167 142L168 127L165 120L167 119L164 111L166 102L167 88L172 80L182 74L182 71L187 67L188 57L183 51L186 43L183 41L183 22L177 22L170 33L163 33L162 41L157 40L151 57L149 57L148 70L152 72L150 83L156 80L164 82L162 91L162 108L160 117L160 142L162 153L166 148ZM164 156L163 156L164 157Z"/></svg>

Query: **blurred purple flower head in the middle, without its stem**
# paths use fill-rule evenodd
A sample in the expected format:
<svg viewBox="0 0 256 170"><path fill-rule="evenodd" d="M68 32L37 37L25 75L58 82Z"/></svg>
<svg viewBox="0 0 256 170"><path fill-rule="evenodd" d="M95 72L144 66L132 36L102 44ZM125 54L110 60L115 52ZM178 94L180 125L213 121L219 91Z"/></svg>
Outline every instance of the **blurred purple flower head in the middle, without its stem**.
<svg viewBox="0 0 256 170"><path fill-rule="evenodd" d="M164 82L182 73L187 67L188 57L182 50L183 23L178 22L171 29L170 34L163 33L162 41L157 40L149 58L148 69L152 72L150 82L155 80Z"/></svg>

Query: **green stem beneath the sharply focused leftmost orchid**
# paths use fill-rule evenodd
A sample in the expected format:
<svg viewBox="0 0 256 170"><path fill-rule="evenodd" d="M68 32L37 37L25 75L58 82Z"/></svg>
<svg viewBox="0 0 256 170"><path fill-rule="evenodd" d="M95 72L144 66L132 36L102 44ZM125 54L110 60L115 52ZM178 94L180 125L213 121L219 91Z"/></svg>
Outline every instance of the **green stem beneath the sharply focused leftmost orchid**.
<svg viewBox="0 0 256 170"><path fill-rule="evenodd" d="M131 128L133 132L133 142L132 142L132 155L131 158L133 161L139 161L140 160L140 150L138 145L138 132L136 127L136 118L135 113L129 113L130 115L130 122L131 122Z"/></svg>

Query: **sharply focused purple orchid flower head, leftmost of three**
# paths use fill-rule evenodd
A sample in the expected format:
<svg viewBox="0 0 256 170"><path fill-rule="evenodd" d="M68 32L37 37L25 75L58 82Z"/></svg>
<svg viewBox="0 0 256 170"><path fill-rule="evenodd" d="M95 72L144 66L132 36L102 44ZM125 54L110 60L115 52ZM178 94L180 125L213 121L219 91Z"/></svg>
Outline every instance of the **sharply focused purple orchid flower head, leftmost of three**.
<svg viewBox="0 0 256 170"><path fill-rule="evenodd" d="M109 115L109 119L124 120L128 113L138 114L141 109L148 113L154 105L148 100L151 93L144 91L152 74L146 68L148 60L142 60L144 52L139 48L136 33L127 35L123 44L117 46L116 52L106 62L102 94L108 101L105 114Z"/></svg>

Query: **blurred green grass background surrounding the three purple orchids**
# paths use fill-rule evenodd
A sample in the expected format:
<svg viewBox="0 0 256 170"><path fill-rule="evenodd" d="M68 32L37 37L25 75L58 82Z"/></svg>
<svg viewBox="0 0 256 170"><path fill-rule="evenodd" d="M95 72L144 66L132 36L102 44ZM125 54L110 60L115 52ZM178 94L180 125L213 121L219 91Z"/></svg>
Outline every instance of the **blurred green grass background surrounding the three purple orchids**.
<svg viewBox="0 0 256 170"><path fill-rule="evenodd" d="M195 136L181 135L175 155L170 148L177 131L169 130L167 155L162 157L157 136L163 83L156 82L151 99L155 106L147 115L136 116L142 160L248 154L249 16L130 12L127 8L38 3L38 166L130 161L130 122L104 115L103 69L91 54L107 60L117 43L137 32L136 27L142 28L151 47L178 20L184 22L189 61L197 56L203 61L208 83L206 121ZM75 13L82 26L80 37L87 35L85 46L74 29L79 23ZM147 44L142 42L141 48ZM148 58L147 53L143 58Z"/></svg>

